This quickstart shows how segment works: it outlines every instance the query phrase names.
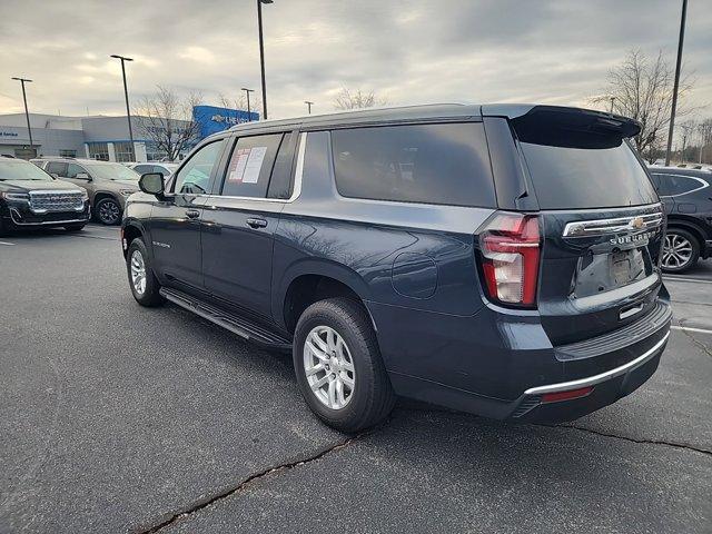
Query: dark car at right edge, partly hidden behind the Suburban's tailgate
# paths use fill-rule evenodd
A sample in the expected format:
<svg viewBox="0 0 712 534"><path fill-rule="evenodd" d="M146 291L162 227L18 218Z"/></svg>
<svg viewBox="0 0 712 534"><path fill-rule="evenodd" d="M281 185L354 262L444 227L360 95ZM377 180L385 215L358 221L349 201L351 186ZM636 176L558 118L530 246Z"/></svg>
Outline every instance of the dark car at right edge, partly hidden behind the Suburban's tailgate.
<svg viewBox="0 0 712 534"><path fill-rule="evenodd" d="M712 172L680 167L650 167L668 212L661 267L684 273L712 256Z"/></svg>

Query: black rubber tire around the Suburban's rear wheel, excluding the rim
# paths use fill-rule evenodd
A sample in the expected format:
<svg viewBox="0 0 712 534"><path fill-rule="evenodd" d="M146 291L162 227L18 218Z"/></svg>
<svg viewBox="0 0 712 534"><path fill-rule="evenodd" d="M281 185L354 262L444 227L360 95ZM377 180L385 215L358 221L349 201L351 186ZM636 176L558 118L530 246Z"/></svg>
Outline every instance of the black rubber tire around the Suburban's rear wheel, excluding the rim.
<svg viewBox="0 0 712 534"><path fill-rule="evenodd" d="M319 400L306 376L305 343L309 333L322 326L334 329L343 338L353 360L355 375L350 400L339 409L333 409ZM376 334L360 303L338 297L309 306L297 323L293 358L304 398L327 425L355 433L382 422L393 409L395 394L380 357Z"/></svg>

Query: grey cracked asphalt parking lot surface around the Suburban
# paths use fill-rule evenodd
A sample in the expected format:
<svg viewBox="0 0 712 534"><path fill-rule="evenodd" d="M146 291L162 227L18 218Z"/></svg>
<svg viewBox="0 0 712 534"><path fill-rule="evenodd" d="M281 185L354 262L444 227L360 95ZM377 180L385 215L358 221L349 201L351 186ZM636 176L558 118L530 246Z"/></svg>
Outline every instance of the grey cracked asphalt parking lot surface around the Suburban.
<svg viewBox="0 0 712 534"><path fill-rule="evenodd" d="M140 308L118 229L0 239L0 532L712 532L712 261L653 378L560 426L400 403L349 437L288 356ZM684 329L682 329L684 328Z"/></svg>

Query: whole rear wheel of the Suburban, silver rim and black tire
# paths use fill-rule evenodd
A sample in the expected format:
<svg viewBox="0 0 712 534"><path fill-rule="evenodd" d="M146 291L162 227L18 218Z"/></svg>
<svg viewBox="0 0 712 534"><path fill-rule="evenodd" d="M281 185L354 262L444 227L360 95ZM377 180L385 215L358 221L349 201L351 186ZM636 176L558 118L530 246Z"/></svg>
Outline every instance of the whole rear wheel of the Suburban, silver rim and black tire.
<svg viewBox="0 0 712 534"><path fill-rule="evenodd" d="M293 357L304 398L329 426L358 432L393 409L395 394L359 303L329 298L309 306L297 323Z"/></svg>

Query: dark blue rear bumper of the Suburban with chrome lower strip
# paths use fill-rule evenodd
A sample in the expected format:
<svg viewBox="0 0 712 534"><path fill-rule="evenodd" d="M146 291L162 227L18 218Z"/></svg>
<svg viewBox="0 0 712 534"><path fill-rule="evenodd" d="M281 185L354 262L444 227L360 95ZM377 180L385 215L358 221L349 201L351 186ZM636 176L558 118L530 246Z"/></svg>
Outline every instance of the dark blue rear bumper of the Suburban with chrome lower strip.
<svg viewBox="0 0 712 534"><path fill-rule="evenodd" d="M383 310L373 307L372 314L378 325ZM557 423L615 403L644 384L657 368L671 318L666 298L660 298L624 328L558 347L534 316L516 323L497 316L492 324L486 314L451 316L432 323L437 334L423 322L411 328L402 320L397 345L385 328L378 337L399 395L496 419ZM581 388L591 390L568 399L551 395Z"/></svg>

